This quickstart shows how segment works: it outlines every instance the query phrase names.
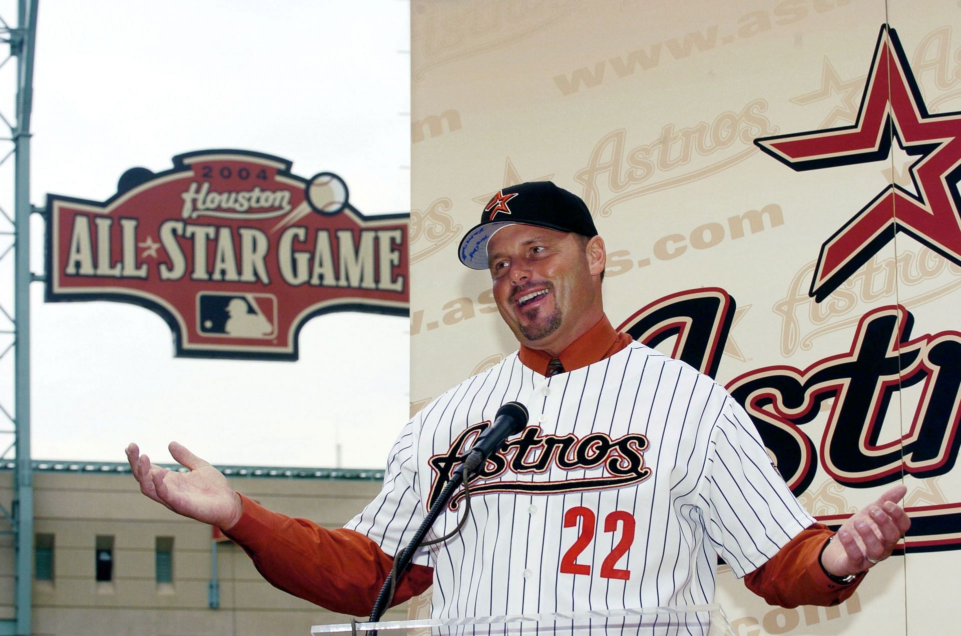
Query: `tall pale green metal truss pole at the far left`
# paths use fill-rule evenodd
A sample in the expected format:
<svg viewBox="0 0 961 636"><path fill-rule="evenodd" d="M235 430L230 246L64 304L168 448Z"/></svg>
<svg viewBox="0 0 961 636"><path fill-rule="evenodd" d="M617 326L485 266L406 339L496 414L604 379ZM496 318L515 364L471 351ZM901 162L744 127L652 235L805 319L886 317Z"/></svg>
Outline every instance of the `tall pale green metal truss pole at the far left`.
<svg viewBox="0 0 961 636"><path fill-rule="evenodd" d="M14 444L16 471L13 493L13 536L16 542L16 634L31 633L34 555L34 474L30 453L30 115L34 92L34 45L37 36L37 0L18 0L17 30L12 34L12 55L17 59L16 125L14 144L14 274L13 361Z"/></svg>

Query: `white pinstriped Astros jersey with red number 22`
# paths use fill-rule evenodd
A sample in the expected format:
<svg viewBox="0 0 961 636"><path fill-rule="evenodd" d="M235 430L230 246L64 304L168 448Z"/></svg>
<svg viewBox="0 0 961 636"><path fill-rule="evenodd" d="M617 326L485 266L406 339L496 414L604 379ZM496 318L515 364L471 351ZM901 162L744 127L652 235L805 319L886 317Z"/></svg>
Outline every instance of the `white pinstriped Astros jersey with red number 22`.
<svg viewBox="0 0 961 636"><path fill-rule="evenodd" d="M513 354L461 382L407 424L347 527L406 547L447 458L512 400L528 428L471 482L460 533L414 557L433 568L435 618L710 603L718 554L743 576L814 523L720 385L632 342L549 379Z"/></svg>

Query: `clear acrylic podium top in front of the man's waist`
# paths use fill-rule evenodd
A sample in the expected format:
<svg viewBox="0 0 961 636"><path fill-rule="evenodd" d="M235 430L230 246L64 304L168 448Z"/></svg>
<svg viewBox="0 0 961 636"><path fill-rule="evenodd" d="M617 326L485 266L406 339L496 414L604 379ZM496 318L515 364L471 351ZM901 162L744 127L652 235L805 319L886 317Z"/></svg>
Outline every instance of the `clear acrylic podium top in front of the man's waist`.
<svg viewBox="0 0 961 636"><path fill-rule="evenodd" d="M364 634L368 629L377 629L379 636L622 633L736 636L718 604L313 625L310 634Z"/></svg>

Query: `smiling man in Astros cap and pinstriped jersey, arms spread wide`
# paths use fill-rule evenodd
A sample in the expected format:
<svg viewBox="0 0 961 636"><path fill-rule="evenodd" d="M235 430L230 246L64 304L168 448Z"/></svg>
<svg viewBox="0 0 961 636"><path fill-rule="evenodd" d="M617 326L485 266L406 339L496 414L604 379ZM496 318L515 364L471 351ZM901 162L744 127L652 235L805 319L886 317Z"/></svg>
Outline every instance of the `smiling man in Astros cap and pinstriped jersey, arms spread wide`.
<svg viewBox="0 0 961 636"><path fill-rule="evenodd" d="M903 486L836 535L816 524L720 385L616 332L604 315L604 240L574 194L547 182L501 190L459 257L490 272L520 349L407 423L382 492L345 528L266 510L180 445L171 453L187 474L128 448L143 493L220 526L278 587L355 615L508 401L527 406L528 428L472 479L469 519L415 554L395 601L432 582L438 618L697 605L713 601L720 555L769 602L836 604L910 526ZM463 514L456 500L428 538Z"/></svg>

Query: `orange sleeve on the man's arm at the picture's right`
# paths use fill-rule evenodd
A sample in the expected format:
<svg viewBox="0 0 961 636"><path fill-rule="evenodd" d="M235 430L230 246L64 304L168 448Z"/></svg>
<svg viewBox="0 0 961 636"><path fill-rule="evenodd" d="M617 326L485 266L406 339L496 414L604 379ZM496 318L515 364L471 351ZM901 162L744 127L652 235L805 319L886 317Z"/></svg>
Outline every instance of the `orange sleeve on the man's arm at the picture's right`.
<svg viewBox="0 0 961 636"><path fill-rule="evenodd" d="M823 524L808 526L751 574L744 584L772 605L837 605L854 593L864 575L835 583L821 566L821 550L834 534Z"/></svg>

